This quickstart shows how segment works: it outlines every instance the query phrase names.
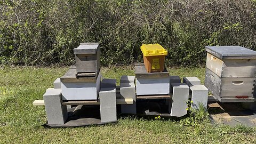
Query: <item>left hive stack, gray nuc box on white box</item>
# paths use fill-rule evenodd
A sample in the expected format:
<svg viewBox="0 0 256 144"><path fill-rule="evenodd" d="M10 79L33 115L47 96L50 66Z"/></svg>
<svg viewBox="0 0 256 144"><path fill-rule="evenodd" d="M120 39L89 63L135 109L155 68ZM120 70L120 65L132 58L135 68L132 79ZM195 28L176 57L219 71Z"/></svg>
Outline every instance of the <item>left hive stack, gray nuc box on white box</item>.
<svg viewBox="0 0 256 144"><path fill-rule="evenodd" d="M97 100L100 91L99 43L81 43L74 49L76 67L60 78L63 100Z"/></svg>

